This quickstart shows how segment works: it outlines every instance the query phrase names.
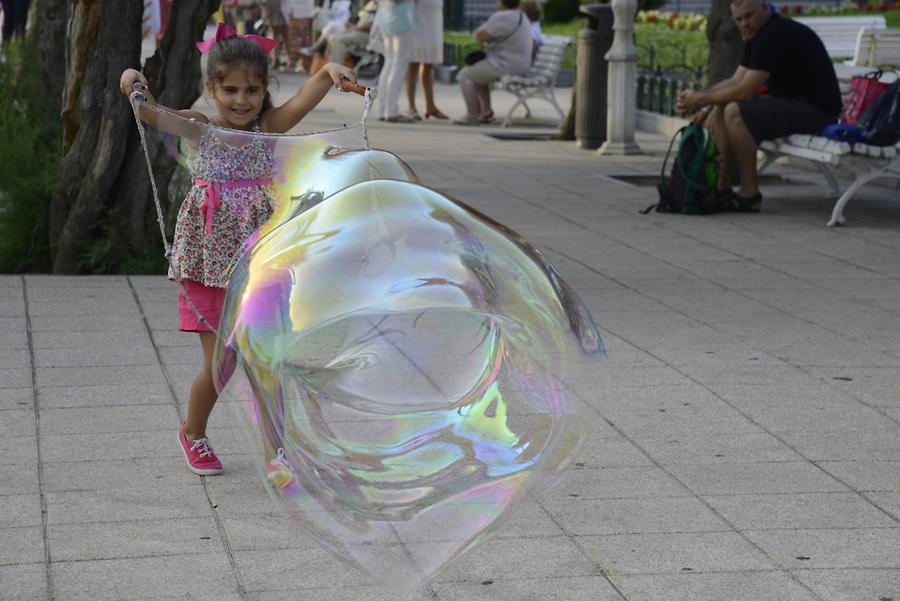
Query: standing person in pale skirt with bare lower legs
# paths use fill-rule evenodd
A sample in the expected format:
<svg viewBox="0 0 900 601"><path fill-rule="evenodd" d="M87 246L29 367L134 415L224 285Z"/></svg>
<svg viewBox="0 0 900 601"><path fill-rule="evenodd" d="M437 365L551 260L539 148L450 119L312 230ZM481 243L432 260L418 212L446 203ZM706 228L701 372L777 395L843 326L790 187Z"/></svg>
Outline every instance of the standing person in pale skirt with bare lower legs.
<svg viewBox="0 0 900 601"><path fill-rule="evenodd" d="M406 97L410 117L420 120L416 110L416 78L425 93L425 118L447 119L434 103L434 66L444 62L444 2L416 0L416 37L406 72Z"/></svg>

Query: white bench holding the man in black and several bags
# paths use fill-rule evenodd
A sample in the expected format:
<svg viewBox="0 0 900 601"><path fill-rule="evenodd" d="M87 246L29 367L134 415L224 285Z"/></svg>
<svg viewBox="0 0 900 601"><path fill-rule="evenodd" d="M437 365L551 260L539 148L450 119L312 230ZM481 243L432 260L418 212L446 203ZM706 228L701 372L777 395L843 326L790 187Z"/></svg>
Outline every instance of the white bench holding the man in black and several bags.
<svg viewBox="0 0 900 601"><path fill-rule="evenodd" d="M854 71L863 71L854 69ZM888 74L882 81L893 80ZM842 79L842 89L846 92L848 80ZM900 181L900 143L896 146L869 146L855 144L852 147L846 142L837 142L822 136L794 134L768 140L759 145L764 153L763 161L757 171L762 173L779 156L790 156L812 161L823 175L832 192L838 197L831 212L829 226L844 225L844 207L851 198L871 181L881 178L892 178ZM841 185L834 170L847 172L855 179L850 187L841 193Z"/></svg>

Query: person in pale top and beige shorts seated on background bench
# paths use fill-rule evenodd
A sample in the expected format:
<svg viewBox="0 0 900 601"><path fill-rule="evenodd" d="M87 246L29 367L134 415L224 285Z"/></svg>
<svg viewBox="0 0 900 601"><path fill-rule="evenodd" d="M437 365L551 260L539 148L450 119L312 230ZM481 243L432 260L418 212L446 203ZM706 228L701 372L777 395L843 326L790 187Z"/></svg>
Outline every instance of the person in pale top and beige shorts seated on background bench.
<svg viewBox="0 0 900 601"><path fill-rule="evenodd" d="M504 75L522 75L531 67L534 42L531 23L519 10L519 0L497 0L497 12L475 30L485 44L485 57L459 72L459 88L466 101L466 116L456 125L491 123L491 83Z"/></svg>

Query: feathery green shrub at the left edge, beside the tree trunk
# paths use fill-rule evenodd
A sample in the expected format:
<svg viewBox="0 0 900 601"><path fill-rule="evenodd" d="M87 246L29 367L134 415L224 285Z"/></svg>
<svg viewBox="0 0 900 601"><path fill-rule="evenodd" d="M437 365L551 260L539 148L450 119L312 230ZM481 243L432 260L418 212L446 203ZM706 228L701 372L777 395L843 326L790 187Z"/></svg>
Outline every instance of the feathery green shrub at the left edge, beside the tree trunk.
<svg viewBox="0 0 900 601"><path fill-rule="evenodd" d="M0 271L48 271L62 124L48 115L37 52L20 41L0 55L0 140Z"/></svg>

